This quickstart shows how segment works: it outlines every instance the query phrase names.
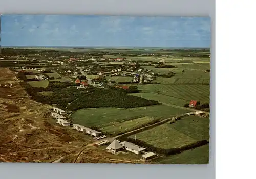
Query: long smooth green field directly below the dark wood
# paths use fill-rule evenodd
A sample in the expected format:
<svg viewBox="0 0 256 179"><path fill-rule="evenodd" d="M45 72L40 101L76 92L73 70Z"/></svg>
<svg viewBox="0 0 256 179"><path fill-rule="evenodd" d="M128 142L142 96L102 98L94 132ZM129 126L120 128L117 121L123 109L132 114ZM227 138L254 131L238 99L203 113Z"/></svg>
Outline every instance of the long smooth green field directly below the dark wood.
<svg viewBox="0 0 256 179"><path fill-rule="evenodd" d="M144 116L150 118L168 118L170 116L184 114L187 110L173 108L165 105L154 105L140 108L120 109L120 108L93 108L82 109L74 112L71 116L74 123L84 126L98 126L114 121L128 121Z"/></svg>

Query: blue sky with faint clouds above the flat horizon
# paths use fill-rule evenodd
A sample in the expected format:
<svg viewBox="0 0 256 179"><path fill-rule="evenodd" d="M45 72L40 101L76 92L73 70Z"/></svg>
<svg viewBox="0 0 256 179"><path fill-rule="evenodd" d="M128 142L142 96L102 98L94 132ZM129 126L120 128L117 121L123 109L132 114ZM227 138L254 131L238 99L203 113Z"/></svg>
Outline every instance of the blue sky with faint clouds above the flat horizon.
<svg viewBox="0 0 256 179"><path fill-rule="evenodd" d="M210 47L209 17L2 15L1 46Z"/></svg>

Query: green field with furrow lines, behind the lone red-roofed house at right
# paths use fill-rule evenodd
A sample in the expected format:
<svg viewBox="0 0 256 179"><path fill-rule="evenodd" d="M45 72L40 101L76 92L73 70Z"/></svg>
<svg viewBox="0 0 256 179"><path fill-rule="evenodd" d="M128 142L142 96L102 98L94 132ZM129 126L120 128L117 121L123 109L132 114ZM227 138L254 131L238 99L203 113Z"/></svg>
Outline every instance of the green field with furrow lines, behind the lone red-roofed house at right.
<svg viewBox="0 0 256 179"><path fill-rule="evenodd" d="M137 85L137 87L141 90L141 93L131 95L157 100L160 103L183 106L185 102L187 103L192 99L209 103L210 86L208 85L148 84Z"/></svg>

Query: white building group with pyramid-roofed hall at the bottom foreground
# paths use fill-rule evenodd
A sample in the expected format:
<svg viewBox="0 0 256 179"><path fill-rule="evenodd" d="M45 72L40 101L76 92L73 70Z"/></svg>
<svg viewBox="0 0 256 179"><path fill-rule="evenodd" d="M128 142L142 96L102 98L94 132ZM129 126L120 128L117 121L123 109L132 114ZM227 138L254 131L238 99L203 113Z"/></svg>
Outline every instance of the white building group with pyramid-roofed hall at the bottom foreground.
<svg viewBox="0 0 256 179"><path fill-rule="evenodd" d="M144 147L140 147L127 141L120 142L116 139L108 147L106 147L106 150L111 152L112 154L117 154L118 152L124 150L130 151L134 154L141 155L141 160L143 161L150 160L157 156L157 154L153 152L146 152L146 148Z"/></svg>

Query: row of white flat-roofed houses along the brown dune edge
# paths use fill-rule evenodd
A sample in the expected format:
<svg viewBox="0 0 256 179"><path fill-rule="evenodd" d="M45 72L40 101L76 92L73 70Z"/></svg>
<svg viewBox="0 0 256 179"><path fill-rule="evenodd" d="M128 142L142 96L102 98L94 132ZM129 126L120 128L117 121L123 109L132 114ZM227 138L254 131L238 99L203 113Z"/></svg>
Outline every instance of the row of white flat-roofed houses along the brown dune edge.
<svg viewBox="0 0 256 179"><path fill-rule="evenodd" d="M57 123L62 126L70 126L70 122L68 122L67 119L67 112L64 110L61 110L59 108L53 108L52 117L57 119ZM76 129L77 131L90 134L91 136L99 137L102 135L101 132L92 130L88 127L84 127L79 124L73 124L73 129Z"/></svg>

